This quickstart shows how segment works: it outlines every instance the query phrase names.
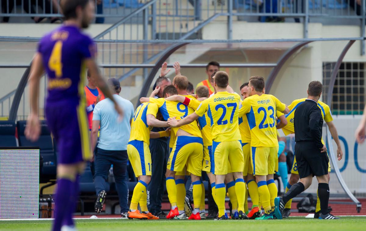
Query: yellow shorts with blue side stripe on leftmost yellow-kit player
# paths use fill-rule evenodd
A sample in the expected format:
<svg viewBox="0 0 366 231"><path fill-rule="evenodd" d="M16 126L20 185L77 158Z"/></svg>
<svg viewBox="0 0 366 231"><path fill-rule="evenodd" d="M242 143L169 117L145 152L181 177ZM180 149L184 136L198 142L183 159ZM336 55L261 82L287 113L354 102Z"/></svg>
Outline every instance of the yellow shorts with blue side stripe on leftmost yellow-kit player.
<svg viewBox="0 0 366 231"><path fill-rule="evenodd" d="M127 154L136 177L151 176L151 154L146 142L131 140L127 144Z"/></svg>

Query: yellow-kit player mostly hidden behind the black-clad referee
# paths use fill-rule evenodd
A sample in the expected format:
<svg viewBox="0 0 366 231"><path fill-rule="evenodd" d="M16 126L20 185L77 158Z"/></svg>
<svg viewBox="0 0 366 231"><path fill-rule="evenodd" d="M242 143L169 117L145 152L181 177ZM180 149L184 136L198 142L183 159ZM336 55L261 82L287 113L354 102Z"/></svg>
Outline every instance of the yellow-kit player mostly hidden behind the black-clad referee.
<svg viewBox="0 0 366 231"><path fill-rule="evenodd" d="M283 133L287 136L289 134L294 134L295 130L294 130L294 114L295 114L295 110L296 107L298 107L299 105L301 105L303 102L305 102L306 98L302 98L302 99L295 99L294 101L292 101L291 105L288 106L288 108L290 109L290 112L288 114L285 115L286 120L287 120L287 125L284 125L282 123L279 123L277 126L277 129L282 128ZM333 117L332 117L332 113L330 112L330 108L328 105L326 105L324 102L318 101L318 107L321 109L321 114L323 117L323 120L326 122L326 124L328 125L330 134L332 135L334 141L337 144L337 156L341 157L343 156L343 151L341 149L341 144L338 138L338 132L336 127L333 124ZM324 140L321 140L323 144ZM330 179L330 164L328 166L328 180ZM291 177L290 180L287 183L286 186L286 192L291 188L292 185L294 185L295 183L297 183L299 181L300 177L299 177L299 173L297 170L297 163L296 163L296 158L294 157L294 163L292 164L292 168L291 168ZM284 209L284 213L283 213L283 217L288 217L290 215L290 209L291 209L291 202L292 200L289 200L286 205L285 205L285 209ZM320 201L319 201L319 197L317 198L317 207L315 209L315 216L314 218L318 218L320 214Z"/></svg>

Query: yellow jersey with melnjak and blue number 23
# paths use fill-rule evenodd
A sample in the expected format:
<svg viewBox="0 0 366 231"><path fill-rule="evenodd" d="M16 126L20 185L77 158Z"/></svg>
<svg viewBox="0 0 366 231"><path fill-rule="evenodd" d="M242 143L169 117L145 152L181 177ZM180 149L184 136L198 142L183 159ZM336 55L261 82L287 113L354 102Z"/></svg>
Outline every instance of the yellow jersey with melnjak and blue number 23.
<svg viewBox="0 0 366 231"><path fill-rule="evenodd" d="M252 147L277 147L276 110L286 105L269 94L252 95L240 105L239 116L246 116L250 128Z"/></svg>

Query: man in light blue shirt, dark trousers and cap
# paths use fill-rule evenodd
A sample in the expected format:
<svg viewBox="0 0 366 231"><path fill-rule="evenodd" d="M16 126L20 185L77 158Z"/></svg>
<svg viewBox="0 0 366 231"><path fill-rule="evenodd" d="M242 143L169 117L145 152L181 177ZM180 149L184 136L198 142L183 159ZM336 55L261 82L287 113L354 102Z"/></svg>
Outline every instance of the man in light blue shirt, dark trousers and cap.
<svg viewBox="0 0 366 231"><path fill-rule="evenodd" d="M94 107L90 144L93 153L95 153L94 186L98 195L95 203L95 211L100 213L102 210L105 196L107 195L106 180L108 178L109 168L111 168L111 165L113 164L113 175L121 207L121 216L127 217L127 143L130 139L131 119L134 115L134 106L130 101L118 95L121 91L121 86L117 79L108 79L108 84L111 86L112 92L114 93L113 98L123 109L124 116L122 121L119 122L118 114L110 99L103 99ZM97 143L98 130L100 130L99 143L96 152L94 152Z"/></svg>

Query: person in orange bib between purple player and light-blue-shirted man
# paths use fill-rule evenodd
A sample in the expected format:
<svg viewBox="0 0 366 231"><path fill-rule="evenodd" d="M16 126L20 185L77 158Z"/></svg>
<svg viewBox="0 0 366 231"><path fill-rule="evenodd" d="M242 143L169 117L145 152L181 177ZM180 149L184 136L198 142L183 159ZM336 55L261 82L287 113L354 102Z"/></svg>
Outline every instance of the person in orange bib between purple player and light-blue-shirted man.
<svg viewBox="0 0 366 231"><path fill-rule="evenodd" d="M84 91L86 96L86 113L89 122L89 130L91 130L94 107L99 101L104 99L104 95L102 91L98 87L96 87L94 79L90 77L89 70L87 71L87 79L88 79L88 85L84 87Z"/></svg>

